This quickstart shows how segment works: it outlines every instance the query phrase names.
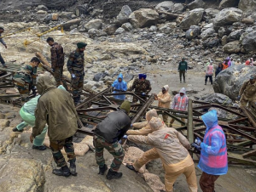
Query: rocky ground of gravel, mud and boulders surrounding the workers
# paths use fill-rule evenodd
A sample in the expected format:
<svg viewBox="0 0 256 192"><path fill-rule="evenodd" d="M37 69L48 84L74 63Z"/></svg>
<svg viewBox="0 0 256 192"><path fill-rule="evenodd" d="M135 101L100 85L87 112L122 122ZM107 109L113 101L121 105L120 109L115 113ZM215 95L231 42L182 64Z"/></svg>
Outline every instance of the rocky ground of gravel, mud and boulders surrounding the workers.
<svg viewBox="0 0 256 192"><path fill-rule="evenodd" d="M20 65L27 63L35 52L50 59L45 40L54 37L63 46L67 61L76 43L83 41L88 43L85 88L100 92L120 72L131 86L134 76L144 72L152 84L151 93L159 93L168 84L172 93L186 88L191 99L207 102L215 99L214 102L232 104L241 83L255 72L254 67L232 67L220 73L212 87L209 83L204 85L205 66L209 59L217 65L227 56L242 62L256 58L253 12L256 3L253 0L191 2L3 0L0 2L0 25L6 29L3 35L28 27L31 30L4 37L8 49L0 47L0 53L6 61L16 60ZM37 34L60 24L63 32L59 28L38 38ZM183 57L189 63L186 83L179 82L177 73L178 62ZM67 69L64 73L69 76ZM214 91L230 99L213 95ZM1 191L150 191L140 175L125 167L122 167L125 177L119 181L98 177L92 151L79 157L77 178L53 176L51 170L55 165L50 150L32 150L29 132L21 135L11 132L20 122L18 111L11 105L0 105ZM109 162L111 156L106 155ZM163 181L159 160L149 163L147 169ZM255 172L252 167L230 166L228 175L218 179L216 191L255 191ZM152 184L147 174L144 178ZM196 170L196 174L199 178L201 172ZM188 191L185 178L177 179L175 191Z"/></svg>

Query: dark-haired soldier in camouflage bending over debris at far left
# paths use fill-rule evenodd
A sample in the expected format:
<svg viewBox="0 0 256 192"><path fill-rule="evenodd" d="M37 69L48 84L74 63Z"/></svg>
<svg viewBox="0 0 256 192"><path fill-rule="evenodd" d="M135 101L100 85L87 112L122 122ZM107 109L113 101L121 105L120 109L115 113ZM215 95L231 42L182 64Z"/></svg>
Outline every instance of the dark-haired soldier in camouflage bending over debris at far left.
<svg viewBox="0 0 256 192"><path fill-rule="evenodd" d="M37 57L33 57L28 65L21 67L20 71L13 76L13 81L22 100L27 100L31 90L34 95L36 94L37 69L40 62Z"/></svg>

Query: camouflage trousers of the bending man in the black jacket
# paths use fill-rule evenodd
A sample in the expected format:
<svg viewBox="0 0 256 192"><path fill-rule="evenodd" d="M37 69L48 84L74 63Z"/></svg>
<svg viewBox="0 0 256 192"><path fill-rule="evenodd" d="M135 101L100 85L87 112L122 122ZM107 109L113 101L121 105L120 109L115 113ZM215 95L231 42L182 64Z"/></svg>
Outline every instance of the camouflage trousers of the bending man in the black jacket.
<svg viewBox="0 0 256 192"><path fill-rule="evenodd" d="M105 159L103 157L103 150L104 148L108 150L108 152L113 155L113 161L111 164L110 169L113 172L118 172L119 168L122 164L122 161L124 159L125 153L122 148L122 145L119 144L119 142L109 144L106 142L103 138L99 138L95 136L93 138L94 144L95 144L95 150L96 150L96 162L99 167L104 167L105 165Z"/></svg>

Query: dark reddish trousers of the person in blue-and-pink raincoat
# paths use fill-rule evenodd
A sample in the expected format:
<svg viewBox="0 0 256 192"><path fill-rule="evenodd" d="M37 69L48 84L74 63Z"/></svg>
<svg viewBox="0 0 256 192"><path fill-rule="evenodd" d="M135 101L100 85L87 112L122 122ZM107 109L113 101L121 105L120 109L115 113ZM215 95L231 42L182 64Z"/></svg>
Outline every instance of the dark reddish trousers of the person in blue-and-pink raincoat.
<svg viewBox="0 0 256 192"><path fill-rule="evenodd" d="M219 175L209 175L207 172L202 172L199 181L201 190L203 192L214 192L214 182L218 179Z"/></svg>

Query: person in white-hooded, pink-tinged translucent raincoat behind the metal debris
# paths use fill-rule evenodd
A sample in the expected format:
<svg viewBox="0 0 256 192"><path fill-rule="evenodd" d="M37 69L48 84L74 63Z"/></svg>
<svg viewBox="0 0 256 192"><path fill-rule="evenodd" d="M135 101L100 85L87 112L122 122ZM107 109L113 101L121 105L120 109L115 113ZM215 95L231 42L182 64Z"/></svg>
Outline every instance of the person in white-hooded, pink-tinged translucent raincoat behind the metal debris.
<svg viewBox="0 0 256 192"><path fill-rule="evenodd" d="M186 111L186 110L188 110L188 104L189 104L189 98L186 95L186 89L185 88L181 88L179 93L177 93L174 96L174 99L172 101L171 109L172 110L183 110L183 111ZM172 123L174 121L175 121L175 119L172 119L170 121L170 127L172 127ZM185 122L185 119L181 118L181 121Z"/></svg>

